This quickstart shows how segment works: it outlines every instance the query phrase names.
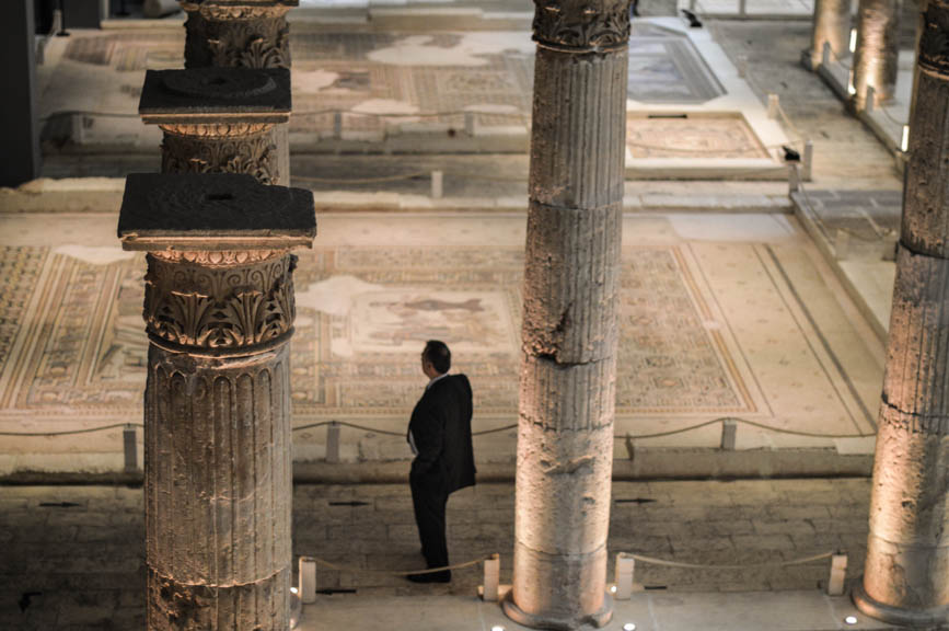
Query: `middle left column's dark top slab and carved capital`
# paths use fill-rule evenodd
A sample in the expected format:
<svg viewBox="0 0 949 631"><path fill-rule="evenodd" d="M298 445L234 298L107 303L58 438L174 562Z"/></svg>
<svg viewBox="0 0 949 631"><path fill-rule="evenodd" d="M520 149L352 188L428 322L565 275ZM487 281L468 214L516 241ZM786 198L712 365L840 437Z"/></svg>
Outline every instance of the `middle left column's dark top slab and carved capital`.
<svg viewBox="0 0 949 631"><path fill-rule="evenodd" d="M164 131L163 173L246 173L288 184L275 125L290 118L283 68L149 70L139 114Z"/></svg>

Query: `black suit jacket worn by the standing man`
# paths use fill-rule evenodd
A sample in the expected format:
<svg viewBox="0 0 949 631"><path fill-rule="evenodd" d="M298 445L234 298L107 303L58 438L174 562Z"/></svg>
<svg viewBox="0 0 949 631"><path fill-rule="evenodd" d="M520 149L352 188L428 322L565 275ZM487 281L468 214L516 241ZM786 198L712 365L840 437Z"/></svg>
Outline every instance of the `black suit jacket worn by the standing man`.
<svg viewBox="0 0 949 631"><path fill-rule="evenodd" d="M438 482L445 493L475 483L471 417L472 390L464 375L443 377L425 391L408 423L418 449L414 481Z"/></svg>

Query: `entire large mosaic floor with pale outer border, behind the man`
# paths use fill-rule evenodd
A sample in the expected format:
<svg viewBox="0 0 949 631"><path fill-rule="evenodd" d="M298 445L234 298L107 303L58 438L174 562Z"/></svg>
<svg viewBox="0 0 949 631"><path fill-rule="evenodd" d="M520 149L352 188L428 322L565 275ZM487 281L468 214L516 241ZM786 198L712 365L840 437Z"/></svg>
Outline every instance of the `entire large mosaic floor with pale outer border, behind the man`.
<svg viewBox="0 0 949 631"><path fill-rule="evenodd" d="M772 217L708 220L627 219L617 428L727 415L817 432L871 428L879 357L835 307L797 229ZM4 221L0 427L140 420L141 257L111 243L111 218L69 220L61 242L45 245L46 219ZM432 337L453 347L472 378L476 426L512 422L523 217L321 221L297 273L294 424L402 427L424 386L418 349ZM761 234L742 240L749 229ZM73 446L94 450L101 440ZM360 445L360 455L403 446L383 447ZM56 449L47 439L5 448Z"/></svg>

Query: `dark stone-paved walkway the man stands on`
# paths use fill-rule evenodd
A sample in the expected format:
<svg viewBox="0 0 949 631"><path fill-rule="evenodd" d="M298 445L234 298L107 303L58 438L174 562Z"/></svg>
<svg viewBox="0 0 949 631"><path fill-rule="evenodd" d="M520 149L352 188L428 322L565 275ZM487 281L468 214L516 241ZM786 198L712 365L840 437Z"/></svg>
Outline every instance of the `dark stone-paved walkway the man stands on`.
<svg viewBox="0 0 949 631"><path fill-rule="evenodd" d="M451 497L452 561L498 552L501 582L510 583L513 493L512 484L479 484ZM617 482L612 494L610 555L623 551L690 563L743 564L846 550L847 576L853 581L863 566L869 494L867 479ZM0 486L0 629L143 627L140 489ZM407 484L297 485L293 534L294 555L373 571L406 571L424 564ZM687 603L686 594L707 599L701 594L709 592L809 590L809 598L822 601L820 589L826 585L829 567L828 562L819 562L783 570L696 571L637 563L636 572L636 582L650 587L651 597L666 598L652 600L655 608L664 607L663 603L671 606L670 598ZM355 596L323 600L327 611L340 616L340 623L352 616L378 616L383 603L417 608L418 597L431 595L450 597L447 603L461 608L450 609L458 621L464 603L477 603L474 595L481 578L481 570L474 567L455 572L450 585L419 586L394 576L320 569L317 587L356 589ZM717 610L715 603L729 601L710 598L702 605L709 611ZM676 627L672 609L657 620L661 624L657 629L682 628ZM757 629L820 628L775 624Z"/></svg>

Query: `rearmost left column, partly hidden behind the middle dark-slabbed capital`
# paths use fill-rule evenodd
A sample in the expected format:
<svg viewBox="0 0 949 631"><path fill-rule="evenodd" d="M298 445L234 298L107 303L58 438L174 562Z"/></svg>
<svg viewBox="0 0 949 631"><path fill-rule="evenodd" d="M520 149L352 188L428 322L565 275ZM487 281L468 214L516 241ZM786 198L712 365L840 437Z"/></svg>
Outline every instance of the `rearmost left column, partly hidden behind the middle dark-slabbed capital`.
<svg viewBox="0 0 949 631"><path fill-rule="evenodd" d="M185 68L290 68L287 12L299 0L180 0L187 13ZM278 168L290 182L289 125L274 129Z"/></svg>

